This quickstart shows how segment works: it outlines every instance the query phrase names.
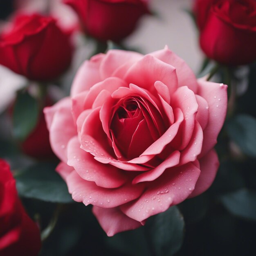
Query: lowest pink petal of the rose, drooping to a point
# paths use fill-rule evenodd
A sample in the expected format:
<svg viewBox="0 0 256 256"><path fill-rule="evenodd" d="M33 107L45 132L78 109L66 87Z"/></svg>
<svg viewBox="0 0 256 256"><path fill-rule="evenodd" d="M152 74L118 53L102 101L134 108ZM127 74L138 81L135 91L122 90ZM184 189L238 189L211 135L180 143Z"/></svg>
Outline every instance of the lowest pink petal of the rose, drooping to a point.
<svg viewBox="0 0 256 256"><path fill-rule="evenodd" d="M137 229L142 226L141 222L129 218L118 207L104 209L94 206L92 212L108 236L114 236L119 232Z"/></svg>

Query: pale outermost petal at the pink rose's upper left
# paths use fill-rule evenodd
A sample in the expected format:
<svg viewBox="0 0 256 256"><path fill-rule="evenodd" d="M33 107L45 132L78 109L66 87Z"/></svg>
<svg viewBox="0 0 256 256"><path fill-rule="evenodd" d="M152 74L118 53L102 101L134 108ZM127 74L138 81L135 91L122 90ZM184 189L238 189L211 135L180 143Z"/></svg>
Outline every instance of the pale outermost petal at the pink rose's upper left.
<svg viewBox="0 0 256 256"><path fill-rule="evenodd" d="M95 83L101 81L99 67L105 54L97 54L90 61L85 61L79 68L71 87L71 96L89 90Z"/></svg>

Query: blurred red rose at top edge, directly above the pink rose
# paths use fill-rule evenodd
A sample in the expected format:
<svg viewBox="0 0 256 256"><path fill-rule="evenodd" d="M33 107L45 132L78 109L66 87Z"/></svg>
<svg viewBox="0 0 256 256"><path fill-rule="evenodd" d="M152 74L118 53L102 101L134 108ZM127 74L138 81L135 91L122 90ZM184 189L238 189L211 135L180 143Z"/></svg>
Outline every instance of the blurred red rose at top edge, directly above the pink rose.
<svg viewBox="0 0 256 256"><path fill-rule="evenodd" d="M64 0L78 13L87 34L119 42L149 13L146 0Z"/></svg>

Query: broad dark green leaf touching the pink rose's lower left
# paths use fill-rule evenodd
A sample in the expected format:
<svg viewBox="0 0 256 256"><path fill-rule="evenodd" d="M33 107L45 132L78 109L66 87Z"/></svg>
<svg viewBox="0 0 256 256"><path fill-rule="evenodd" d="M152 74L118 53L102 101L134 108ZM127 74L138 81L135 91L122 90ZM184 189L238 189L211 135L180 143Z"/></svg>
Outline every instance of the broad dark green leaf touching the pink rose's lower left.
<svg viewBox="0 0 256 256"><path fill-rule="evenodd" d="M47 202L72 202L67 185L55 168L55 163L40 162L20 171L15 177L19 195Z"/></svg>

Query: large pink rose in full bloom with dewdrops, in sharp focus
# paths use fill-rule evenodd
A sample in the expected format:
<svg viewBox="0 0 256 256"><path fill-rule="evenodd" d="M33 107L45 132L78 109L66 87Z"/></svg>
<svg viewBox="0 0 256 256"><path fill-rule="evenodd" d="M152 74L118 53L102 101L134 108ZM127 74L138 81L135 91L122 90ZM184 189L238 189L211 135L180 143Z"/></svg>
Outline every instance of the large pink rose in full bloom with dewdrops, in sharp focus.
<svg viewBox="0 0 256 256"><path fill-rule="evenodd" d="M166 47L92 57L45 115L58 173L112 236L209 188L226 110L227 85L197 81Z"/></svg>

